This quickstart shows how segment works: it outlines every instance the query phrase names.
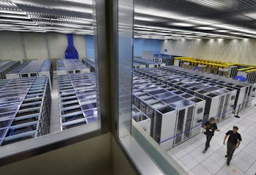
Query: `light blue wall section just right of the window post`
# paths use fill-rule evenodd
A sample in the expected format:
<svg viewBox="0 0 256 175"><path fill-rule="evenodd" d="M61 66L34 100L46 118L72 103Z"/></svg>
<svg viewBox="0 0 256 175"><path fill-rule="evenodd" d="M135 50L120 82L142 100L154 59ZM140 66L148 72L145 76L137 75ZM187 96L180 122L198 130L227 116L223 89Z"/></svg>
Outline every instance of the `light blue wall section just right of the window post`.
<svg viewBox="0 0 256 175"><path fill-rule="evenodd" d="M134 56L142 56L143 51L152 51L152 53L161 53L161 40L152 39L134 39Z"/></svg>

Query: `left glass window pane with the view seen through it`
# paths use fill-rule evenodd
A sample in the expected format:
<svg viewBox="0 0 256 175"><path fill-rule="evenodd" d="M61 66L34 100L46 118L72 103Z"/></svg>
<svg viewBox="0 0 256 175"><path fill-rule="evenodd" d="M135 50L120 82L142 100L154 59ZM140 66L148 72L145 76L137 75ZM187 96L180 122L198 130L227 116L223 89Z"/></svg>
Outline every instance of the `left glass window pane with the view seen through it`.
<svg viewBox="0 0 256 175"><path fill-rule="evenodd" d="M93 3L0 2L0 149L100 129Z"/></svg>

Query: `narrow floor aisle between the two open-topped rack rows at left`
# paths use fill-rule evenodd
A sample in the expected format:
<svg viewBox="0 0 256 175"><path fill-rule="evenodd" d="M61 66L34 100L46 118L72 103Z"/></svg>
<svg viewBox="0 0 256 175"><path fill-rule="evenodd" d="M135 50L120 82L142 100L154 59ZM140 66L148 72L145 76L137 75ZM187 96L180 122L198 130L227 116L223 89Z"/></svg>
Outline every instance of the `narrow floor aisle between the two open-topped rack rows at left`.
<svg viewBox="0 0 256 175"><path fill-rule="evenodd" d="M51 92L51 125L50 133L56 133L60 131L59 126L59 98L57 89L56 72L54 71L54 81Z"/></svg>

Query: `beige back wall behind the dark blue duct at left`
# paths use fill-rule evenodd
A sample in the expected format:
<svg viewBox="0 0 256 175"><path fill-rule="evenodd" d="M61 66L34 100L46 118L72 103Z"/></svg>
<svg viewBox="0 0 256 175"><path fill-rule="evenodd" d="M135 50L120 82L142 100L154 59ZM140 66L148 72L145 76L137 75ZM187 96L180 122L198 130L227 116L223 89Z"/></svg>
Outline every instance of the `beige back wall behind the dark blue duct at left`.
<svg viewBox="0 0 256 175"><path fill-rule="evenodd" d="M79 59L86 57L84 35L73 35ZM67 35L34 32L1 31L0 60L64 59Z"/></svg>

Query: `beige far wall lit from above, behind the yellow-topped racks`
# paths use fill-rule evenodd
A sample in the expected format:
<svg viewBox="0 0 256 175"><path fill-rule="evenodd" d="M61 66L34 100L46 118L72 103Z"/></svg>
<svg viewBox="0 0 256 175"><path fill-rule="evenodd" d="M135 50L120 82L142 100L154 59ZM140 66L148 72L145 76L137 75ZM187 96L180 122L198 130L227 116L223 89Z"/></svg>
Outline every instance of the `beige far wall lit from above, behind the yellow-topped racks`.
<svg viewBox="0 0 256 175"><path fill-rule="evenodd" d="M161 53L256 65L256 40L164 40Z"/></svg>

